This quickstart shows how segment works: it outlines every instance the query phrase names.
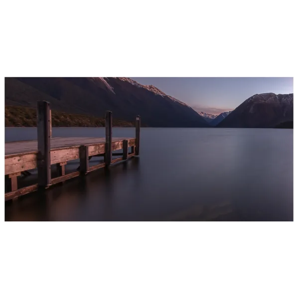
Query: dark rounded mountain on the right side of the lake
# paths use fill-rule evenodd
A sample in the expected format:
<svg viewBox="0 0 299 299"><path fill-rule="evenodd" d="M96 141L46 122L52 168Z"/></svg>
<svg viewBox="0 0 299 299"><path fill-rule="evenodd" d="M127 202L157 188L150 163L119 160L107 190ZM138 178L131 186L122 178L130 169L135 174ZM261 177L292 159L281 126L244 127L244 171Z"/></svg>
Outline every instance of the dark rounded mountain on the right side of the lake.
<svg viewBox="0 0 299 299"><path fill-rule="evenodd" d="M293 121L294 95L256 94L228 115L220 128L273 128Z"/></svg>

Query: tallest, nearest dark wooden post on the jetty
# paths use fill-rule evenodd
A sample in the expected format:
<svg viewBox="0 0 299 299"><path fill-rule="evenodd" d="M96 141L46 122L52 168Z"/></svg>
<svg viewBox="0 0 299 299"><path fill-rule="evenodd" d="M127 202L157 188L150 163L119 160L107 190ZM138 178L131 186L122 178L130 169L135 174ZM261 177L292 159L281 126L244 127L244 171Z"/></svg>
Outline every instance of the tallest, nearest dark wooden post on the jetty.
<svg viewBox="0 0 299 299"><path fill-rule="evenodd" d="M51 184L50 103L37 102L37 173L38 186Z"/></svg>

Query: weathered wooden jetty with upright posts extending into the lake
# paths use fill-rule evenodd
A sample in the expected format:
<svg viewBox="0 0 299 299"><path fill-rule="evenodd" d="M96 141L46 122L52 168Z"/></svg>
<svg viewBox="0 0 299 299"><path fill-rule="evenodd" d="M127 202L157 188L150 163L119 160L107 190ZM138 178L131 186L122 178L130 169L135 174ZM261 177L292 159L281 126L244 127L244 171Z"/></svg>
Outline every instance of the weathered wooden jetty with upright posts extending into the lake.
<svg viewBox="0 0 299 299"><path fill-rule="evenodd" d="M36 190L45 190L67 179L139 155L140 123L141 118L137 116L135 138L113 138L112 112L107 111L105 138L52 138L50 104L46 101L37 102L37 140L5 143L5 180L10 189L5 193L5 201ZM123 152L113 152L118 149L123 149ZM103 156L104 162L89 166L93 156ZM121 157L113 159L113 156ZM77 171L65 174L67 161L76 159L80 159ZM54 178L51 178L52 164L56 164L58 172ZM30 175L28 170L35 168L37 183L18 189L17 177L21 174Z"/></svg>

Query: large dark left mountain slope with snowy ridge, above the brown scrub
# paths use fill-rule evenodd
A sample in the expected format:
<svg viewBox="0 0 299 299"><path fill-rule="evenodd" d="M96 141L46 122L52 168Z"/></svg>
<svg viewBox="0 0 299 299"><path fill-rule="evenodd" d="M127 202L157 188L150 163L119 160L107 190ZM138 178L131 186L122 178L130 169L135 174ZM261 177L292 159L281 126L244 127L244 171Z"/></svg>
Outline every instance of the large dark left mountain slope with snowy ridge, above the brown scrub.
<svg viewBox="0 0 299 299"><path fill-rule="evenodd" d="M136 115L150 127L209 127L196 111L154 86L129 78L5 78L5 104L36 107L38 100L54 110L132 121Z"/></svg>

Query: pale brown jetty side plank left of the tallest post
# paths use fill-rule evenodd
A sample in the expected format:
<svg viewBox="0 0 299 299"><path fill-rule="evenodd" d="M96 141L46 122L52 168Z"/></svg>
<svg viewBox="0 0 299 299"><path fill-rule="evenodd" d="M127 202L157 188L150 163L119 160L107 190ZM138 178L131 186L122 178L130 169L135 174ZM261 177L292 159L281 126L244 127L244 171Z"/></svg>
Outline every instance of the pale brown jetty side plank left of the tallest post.
<svg viewBox="0 0 299 299"><path fill-rule="evenodd" d="M37 154L29 153L27 155L16 155L5 157L5 174L19 172L37 167Z"/></svg>

